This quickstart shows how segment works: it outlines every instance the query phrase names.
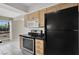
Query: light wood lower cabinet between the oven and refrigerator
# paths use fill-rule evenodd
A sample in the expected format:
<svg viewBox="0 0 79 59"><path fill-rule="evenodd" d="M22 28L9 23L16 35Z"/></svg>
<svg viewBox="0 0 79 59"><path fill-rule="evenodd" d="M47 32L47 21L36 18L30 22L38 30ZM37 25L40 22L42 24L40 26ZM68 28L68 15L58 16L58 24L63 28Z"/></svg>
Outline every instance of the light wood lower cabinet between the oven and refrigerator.
<svg viewBox="0 0 79 59"><path fill-rule="evenodd" d="M43 55L44 54L44 41L40 39L35 40L35 51L36 55Z"/></svg>

